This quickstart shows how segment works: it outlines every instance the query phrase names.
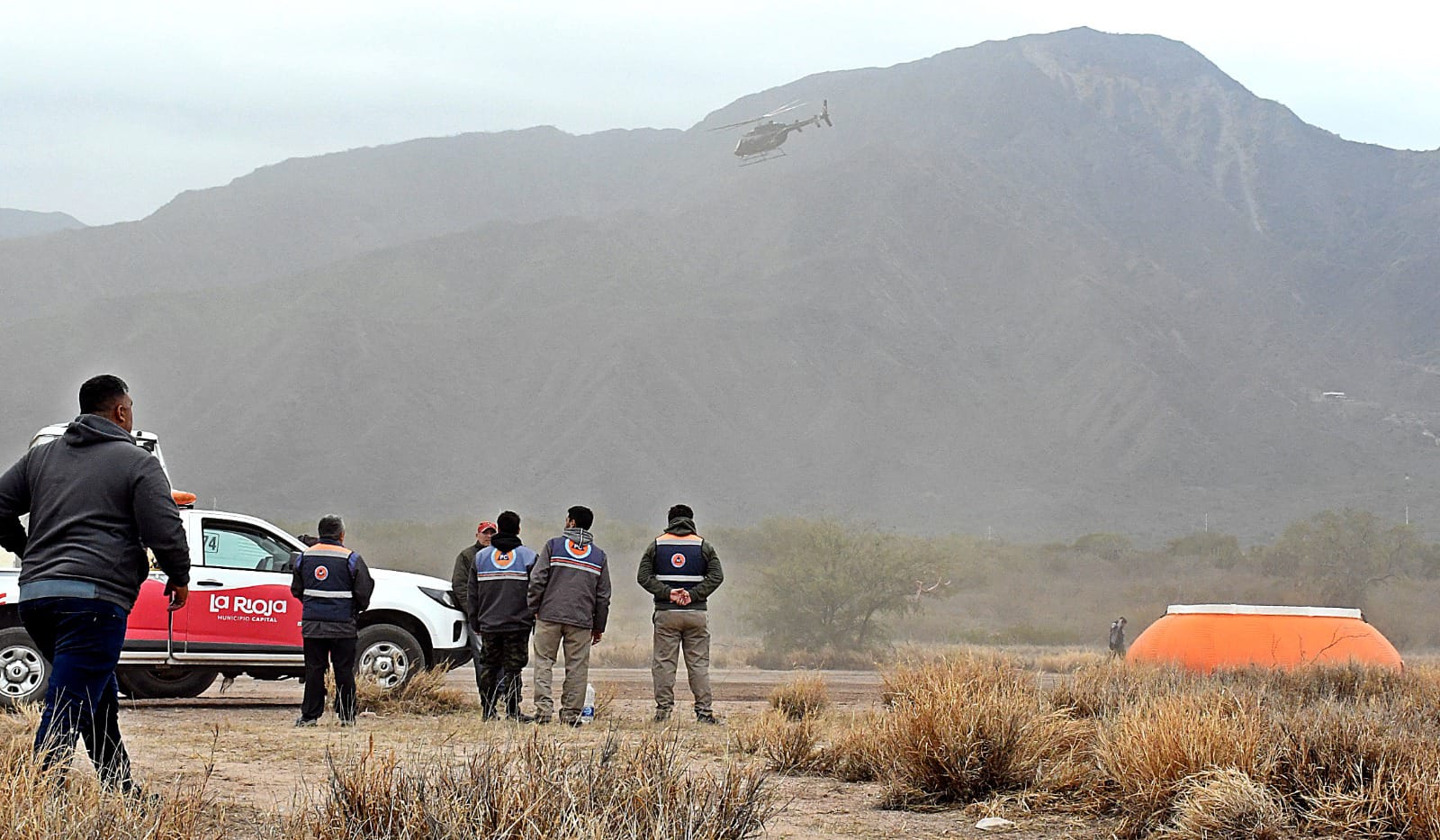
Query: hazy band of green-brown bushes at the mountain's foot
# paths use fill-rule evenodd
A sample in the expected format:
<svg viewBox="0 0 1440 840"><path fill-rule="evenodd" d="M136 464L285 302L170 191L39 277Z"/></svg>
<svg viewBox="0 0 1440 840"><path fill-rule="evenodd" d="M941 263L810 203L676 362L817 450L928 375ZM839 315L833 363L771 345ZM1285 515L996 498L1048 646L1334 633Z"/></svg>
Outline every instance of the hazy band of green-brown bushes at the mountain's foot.
<svg viewBox="0 0 1440 840"><path fill-rule="evenodd" d="M634 573L658 530L598 522L615 584L598 666L648 664L649 595ZM354 532L374 565L448 579L474 523L357 523ZM1440 543L1359 510L1319 513L1254 546L1217 532L1152 548L1106 532L1008 543L808 519L701 522L701 533L726 568L710 612L717 667L871 669L897 661L896 643L1103 647L1115 617L1130 620L1133 640L1168 604L1187 602L1356 607L1401 650L1440 648L1431 609ZM527 522L523 536L544 535Z"/></svg>

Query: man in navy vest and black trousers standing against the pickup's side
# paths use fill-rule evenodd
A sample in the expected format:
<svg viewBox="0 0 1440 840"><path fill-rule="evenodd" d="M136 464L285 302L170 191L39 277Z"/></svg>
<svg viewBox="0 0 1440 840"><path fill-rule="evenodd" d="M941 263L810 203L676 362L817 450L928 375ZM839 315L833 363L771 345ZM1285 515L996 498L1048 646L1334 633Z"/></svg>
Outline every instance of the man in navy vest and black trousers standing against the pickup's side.
<svg viewBox="0 0 1440 840"><path fill-rule="evenodd" d="M320 520L320 542L295 562L289 592L304 607L300 635L305 644L305 694L295 726L314 726L325 713L325 671L336 667L336 718L356 722L356 618L370 608L374 581L364 559L346 548L346 523Z"/></svg>

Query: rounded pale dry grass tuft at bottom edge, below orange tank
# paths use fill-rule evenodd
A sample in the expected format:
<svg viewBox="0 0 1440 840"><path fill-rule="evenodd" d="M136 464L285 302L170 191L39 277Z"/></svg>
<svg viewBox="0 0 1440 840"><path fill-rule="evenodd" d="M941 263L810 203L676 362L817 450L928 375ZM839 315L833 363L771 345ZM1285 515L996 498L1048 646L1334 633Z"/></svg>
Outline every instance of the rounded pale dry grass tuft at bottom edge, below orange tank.
<svg viewBox="0 0 1440 840"><path fill-rule="evenodd" d="M1175 816L1156 831L1165 840L1283 840L1295 820L1263 784L1234 768L1208 769L1184 781Z"/></svg>

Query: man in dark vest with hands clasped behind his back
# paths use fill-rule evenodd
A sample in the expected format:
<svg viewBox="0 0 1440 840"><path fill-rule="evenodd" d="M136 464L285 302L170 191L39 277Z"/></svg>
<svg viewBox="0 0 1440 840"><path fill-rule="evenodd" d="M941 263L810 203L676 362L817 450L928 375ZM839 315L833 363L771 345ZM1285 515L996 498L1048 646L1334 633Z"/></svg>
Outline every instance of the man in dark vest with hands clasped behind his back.
<svg viewBox="0 0 1440 840"><path fill-rule="evenodd" d="M675 669L685 653L685 674L696 697L696 720L719 723L710 696L710 622L706 599L724 582L716 549L696 533L688 504L670 509L665 533L639 560L636 581L655 597L655 638L649 673L655 720L670 720L675 706Z"/></svg>

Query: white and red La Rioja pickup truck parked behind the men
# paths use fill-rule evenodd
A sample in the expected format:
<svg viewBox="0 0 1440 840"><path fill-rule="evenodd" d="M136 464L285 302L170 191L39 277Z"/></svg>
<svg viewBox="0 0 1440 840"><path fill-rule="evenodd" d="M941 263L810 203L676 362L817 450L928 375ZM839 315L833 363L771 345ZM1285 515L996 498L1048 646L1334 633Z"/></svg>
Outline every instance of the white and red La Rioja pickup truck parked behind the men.
<svg viewBox="0 0 1440 840"><path fill-rule="evenodd" d="M36 435L36 445L48 439ZM151 441L141 445L158 457ZM170 612L166 575L150 572L130 612L115 671L120 690L134 699L194 697L220 674L300 677L301 604L289 579L305 545L240 513L183 506L180 519L190 542L190 599ZM361 677L396 689L420 669L469 661L449 581L389 569L372 575L374 597L360 615L356 651ZM0 707L40 699L49 682L49 663L20 625L19 576L0 568Z"/></svg>

